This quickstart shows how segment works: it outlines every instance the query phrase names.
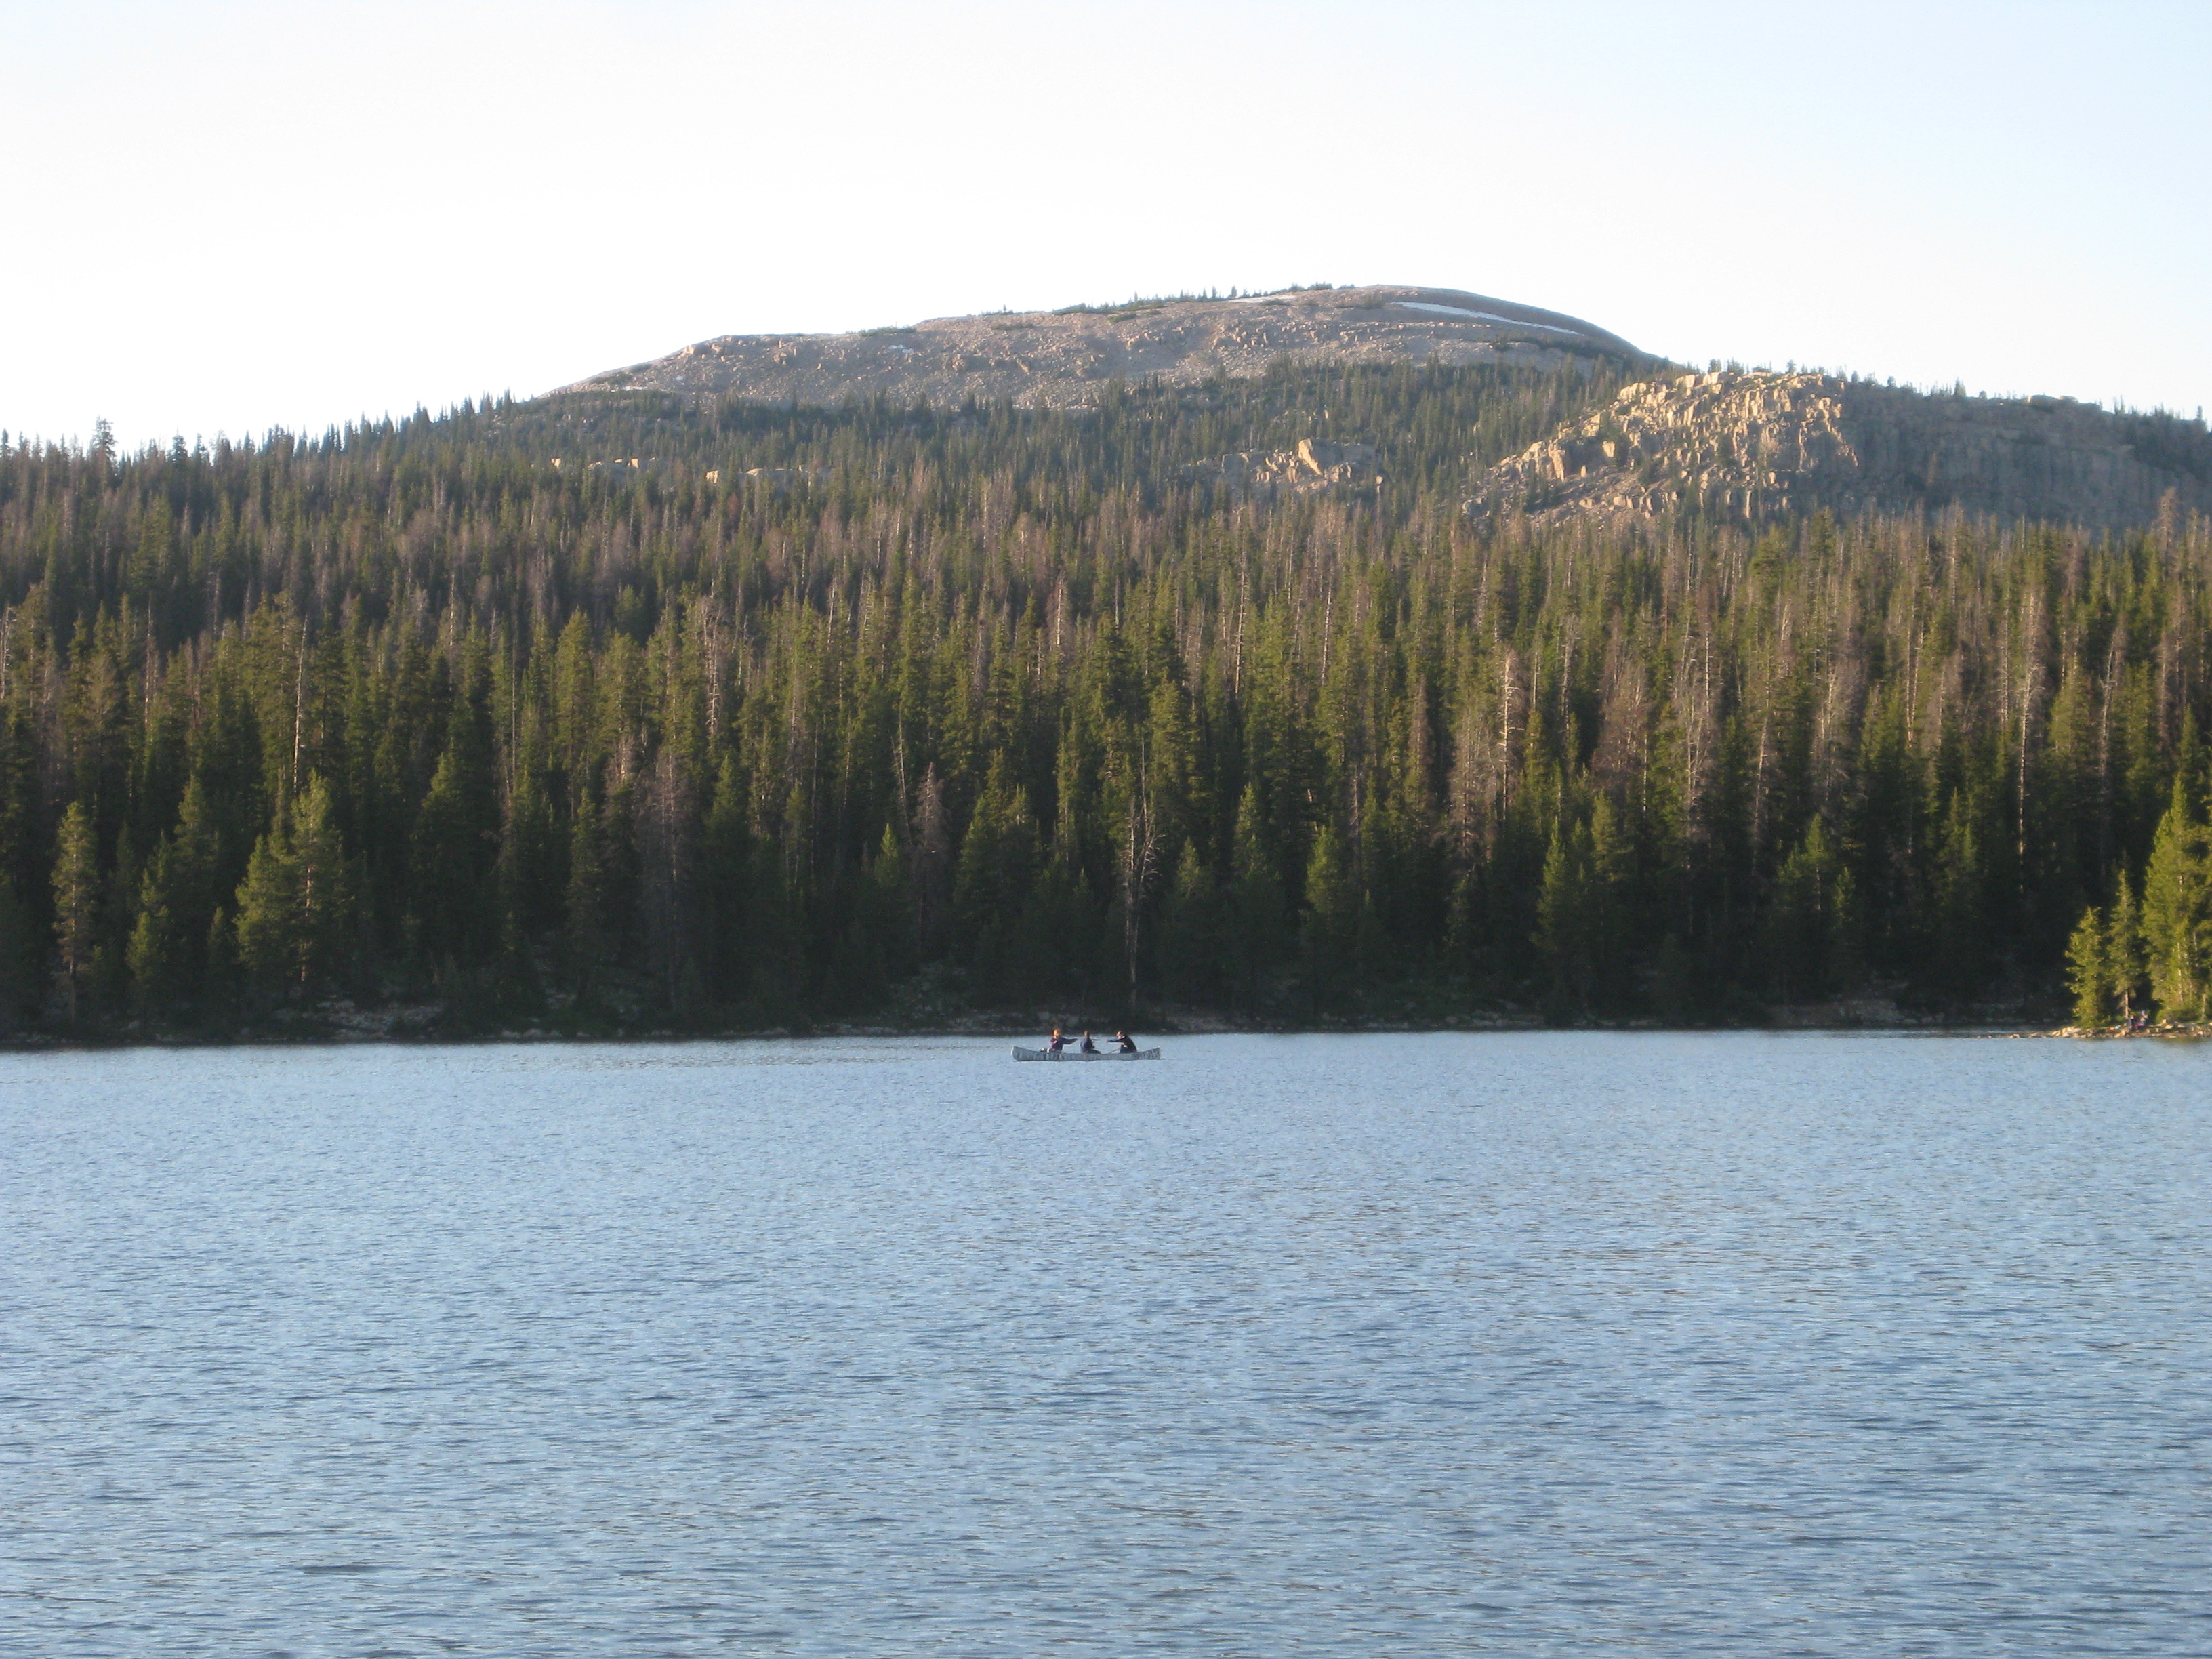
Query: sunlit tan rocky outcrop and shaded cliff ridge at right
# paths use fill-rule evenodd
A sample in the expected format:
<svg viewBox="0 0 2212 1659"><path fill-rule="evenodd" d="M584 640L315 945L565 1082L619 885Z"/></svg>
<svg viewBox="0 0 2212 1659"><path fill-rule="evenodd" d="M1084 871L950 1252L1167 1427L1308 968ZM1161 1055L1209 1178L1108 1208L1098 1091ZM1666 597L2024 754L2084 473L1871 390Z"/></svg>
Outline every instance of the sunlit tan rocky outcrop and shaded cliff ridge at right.
<svg viewBox="0 0 2212 1659"><path fill-rule="evenodd" d="M1829 374L1714 372L1621 387L1491 467L1473 515L1628 520L1960 507L2090 526L2212 511L2201 420L2073 398L1966 398Z"/></svg>

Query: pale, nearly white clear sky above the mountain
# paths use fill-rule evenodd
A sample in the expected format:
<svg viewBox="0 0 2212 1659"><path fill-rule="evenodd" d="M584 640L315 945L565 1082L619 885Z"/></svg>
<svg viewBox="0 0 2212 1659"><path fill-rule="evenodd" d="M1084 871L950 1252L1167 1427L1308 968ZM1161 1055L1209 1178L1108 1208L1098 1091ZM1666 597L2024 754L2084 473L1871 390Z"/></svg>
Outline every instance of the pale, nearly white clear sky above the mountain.
<svg viewBox="0 0 2212 1659"><path fill-rule="evenodd" d="M0 429L1314 281L2194 414L2208 84L2203 0L0 0Z"/></svg>

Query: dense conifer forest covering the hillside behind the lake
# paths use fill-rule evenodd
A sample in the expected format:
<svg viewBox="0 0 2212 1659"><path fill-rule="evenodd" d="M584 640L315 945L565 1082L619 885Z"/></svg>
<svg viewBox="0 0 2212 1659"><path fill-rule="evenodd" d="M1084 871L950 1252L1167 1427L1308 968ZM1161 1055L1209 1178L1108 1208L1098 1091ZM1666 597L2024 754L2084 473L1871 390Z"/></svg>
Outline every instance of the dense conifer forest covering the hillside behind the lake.
<svg viewBox="0 0 2212 1659"><path fill-rule="evenodd" d="M1460 511L1632 374L9 445L0 1018L1964 1009L2161 818L2194 962L2205 526Z"/></svg>

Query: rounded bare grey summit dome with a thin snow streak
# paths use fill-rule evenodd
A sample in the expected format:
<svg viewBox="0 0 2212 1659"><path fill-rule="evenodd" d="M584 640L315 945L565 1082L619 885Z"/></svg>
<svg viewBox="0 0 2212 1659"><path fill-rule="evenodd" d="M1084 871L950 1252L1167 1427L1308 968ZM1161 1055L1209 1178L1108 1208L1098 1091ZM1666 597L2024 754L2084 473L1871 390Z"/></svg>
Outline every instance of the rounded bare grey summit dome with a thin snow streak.
<svg viewBox="0 0 2212 1659"><path fill-rule="evenodd" d="M945 316L863 334L726 334L562 392L677 392L763 403L887 396L1082 407L1106 380L1192 385L1305 363L1511 363L1641 354L1617 334L1455 288L1305 288L1250 299L1146 299L1062 312Z"/></svg>

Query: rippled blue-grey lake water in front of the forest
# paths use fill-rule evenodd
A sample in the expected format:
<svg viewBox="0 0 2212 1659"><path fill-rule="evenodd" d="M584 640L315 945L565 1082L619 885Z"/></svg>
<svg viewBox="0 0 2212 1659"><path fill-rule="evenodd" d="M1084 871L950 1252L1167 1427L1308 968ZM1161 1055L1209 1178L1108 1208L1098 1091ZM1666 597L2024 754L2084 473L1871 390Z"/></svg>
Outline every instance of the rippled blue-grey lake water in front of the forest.
<svg viewBox="0 0 2212 1659"><path fill-rule="evenodd" d="M2212 1652L2212 1048L0 1057L0 1650Z"/></svg>

